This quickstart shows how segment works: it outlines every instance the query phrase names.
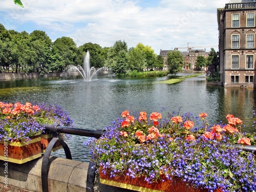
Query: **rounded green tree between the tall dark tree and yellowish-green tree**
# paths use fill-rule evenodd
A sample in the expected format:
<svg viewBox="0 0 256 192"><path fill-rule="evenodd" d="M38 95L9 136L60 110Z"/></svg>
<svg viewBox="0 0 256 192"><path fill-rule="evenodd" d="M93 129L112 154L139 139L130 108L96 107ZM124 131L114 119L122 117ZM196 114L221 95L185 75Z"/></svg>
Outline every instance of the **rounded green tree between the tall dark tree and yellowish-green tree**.
<svg viewBox="0 0 256 192"><path fill-rule="evenodd" d="M136 70L137 72L143 71L146 66L146 55L145 52L138 48L130 48L127 53L127 68L131 71Z"/></svg>

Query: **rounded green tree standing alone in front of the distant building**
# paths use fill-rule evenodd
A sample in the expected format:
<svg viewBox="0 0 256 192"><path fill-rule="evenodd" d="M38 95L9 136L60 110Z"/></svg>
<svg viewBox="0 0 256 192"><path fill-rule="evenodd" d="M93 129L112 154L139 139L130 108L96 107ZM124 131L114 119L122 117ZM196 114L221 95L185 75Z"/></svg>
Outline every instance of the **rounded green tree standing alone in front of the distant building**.
<svg viewBox="0 0 256 192"><path fill-rule="evenodd" d="M174 50L167 53L166 64L168 66L169 73L177 75L182 71L182 65L184 62L183 55L180 51Z"/></svg>

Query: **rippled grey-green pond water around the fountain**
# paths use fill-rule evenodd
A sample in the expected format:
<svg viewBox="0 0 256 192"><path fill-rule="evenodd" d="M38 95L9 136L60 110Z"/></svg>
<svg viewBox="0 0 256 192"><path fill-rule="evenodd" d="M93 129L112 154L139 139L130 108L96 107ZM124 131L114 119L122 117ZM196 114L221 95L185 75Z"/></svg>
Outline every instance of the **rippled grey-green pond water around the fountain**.
<svg viewBox="0 0 256 192"><path fill-rule="evenodd" d="M194 116L207 113L212 124L233 114L244 121L246 131L254 131L251 126L252 110L256 109L254 90L207 86L204 75L176 84L156 83L168 78L98 76L90 82L56 78L4 80L0 82L0 101L56 103L70 114L77 127L84 129L104 129L125 110L147 114L156 111L164 116L181 108L181 112ZM84 157L89 150L83 145L87 139L73 136L67 142L73 159L89 161ZM53 154L65 156L62 150Z"/></svg>

